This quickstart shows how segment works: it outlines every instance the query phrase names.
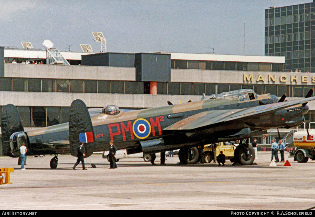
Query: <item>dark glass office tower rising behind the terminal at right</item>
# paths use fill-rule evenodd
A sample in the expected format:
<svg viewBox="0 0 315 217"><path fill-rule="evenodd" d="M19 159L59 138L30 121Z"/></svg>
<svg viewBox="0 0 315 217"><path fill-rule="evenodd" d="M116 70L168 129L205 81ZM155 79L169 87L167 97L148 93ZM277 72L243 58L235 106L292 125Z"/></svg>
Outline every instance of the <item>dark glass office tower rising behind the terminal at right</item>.
<svg viewBox="0 0 315 217"><path fill-rule="evenodd" d="M284 71L315 73L315 2L265 10L265 56L285 56Z"/></svg>

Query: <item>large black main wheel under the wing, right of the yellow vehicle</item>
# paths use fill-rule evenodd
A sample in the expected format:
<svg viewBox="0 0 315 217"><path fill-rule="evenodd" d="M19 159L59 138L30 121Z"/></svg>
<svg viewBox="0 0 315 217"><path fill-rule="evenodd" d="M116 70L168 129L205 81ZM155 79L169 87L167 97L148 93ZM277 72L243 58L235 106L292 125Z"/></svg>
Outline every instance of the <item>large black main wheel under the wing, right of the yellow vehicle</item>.
<svg viewBox="0 0 315 217"><path fill-rule="evenodd" d="M249 146L248 149L239 145L234 151L234 160L242 165L251 165L255 160L255 151L253 147Z"/></svg>

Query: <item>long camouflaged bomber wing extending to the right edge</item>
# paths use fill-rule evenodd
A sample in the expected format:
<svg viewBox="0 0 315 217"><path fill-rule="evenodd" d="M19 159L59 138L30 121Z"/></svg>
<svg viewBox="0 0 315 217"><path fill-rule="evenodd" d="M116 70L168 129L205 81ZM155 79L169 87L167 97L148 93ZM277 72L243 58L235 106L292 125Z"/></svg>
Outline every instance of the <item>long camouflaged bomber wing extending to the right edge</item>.
<svg viewBox="0 0 315 217"><path fill-rule="evenodd" d="M164 128L163 130L194 130L200 127L222 124L231 120L247 120L298 104L307 103L312 100L315 100L315 97L261 105L251 108L205 111L180 120L179 122Z"/></svg>

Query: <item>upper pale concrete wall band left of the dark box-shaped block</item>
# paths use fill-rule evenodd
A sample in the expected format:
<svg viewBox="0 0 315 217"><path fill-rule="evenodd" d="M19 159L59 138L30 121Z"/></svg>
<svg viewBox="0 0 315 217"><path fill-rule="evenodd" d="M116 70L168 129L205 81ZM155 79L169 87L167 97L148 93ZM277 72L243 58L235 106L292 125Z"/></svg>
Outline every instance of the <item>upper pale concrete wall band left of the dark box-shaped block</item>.
<svg viewBox="0 0 315 217"><path fill-rule="evenodd" d="M135 68L5 64L4 77L135 81Z"/></svg>

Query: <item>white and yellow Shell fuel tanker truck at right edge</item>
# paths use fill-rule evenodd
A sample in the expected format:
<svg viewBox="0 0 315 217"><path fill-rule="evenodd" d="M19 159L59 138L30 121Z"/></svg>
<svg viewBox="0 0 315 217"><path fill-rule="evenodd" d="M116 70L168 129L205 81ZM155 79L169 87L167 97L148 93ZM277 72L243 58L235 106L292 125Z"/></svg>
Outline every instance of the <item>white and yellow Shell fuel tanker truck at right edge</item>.
<svg viewBox="0 0 315 217"><path fill-rule="evenodd" d="M295 161L306 163L309 158L315 160L315 130L295 132L293 143L295 146Z"/></svg>

